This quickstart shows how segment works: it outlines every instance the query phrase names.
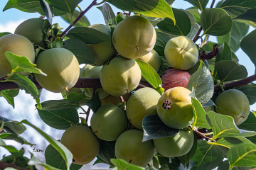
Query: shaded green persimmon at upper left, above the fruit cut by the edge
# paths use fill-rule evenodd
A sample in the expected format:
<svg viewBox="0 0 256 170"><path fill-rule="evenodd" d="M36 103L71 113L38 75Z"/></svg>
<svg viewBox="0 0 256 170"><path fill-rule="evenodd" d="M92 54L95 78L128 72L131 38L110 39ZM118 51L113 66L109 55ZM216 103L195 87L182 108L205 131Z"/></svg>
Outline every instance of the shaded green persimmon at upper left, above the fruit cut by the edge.
<svg viewBox="0 0 256 170"><path fill-rule="evenodd" d="M28 40L35 43L35 45L46 47L46 42L44 42L44 35L42 32L43 21L44 20L42 18L28 19L18 25L14 33L23 35L28 38Z"/></svg>

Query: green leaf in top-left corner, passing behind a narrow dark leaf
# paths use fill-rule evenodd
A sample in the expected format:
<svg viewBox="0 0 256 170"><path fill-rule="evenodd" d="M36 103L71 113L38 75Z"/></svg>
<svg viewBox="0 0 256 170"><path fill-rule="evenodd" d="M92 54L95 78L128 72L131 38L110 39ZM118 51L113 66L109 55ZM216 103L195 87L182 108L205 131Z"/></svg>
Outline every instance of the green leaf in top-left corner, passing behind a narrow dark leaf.
<svg viewBox="0 0 256 170"><path fill-rule="evenodd" d="M4 6L3 11L6 11L9 8L16 8L20 11L29 12L29 13L38 12L41 15L45 15L39 0L8 1L6 6ZM60 11L54 7L53 7L53 11L54 11L54 16L62 16L66 13L65 11Z"/></svg>

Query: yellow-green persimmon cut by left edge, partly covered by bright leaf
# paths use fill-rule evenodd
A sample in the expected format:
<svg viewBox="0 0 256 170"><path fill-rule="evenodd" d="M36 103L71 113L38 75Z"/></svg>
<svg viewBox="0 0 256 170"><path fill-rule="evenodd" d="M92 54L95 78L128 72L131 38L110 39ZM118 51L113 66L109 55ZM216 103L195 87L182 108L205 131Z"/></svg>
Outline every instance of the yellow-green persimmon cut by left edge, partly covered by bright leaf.
<svg viewBox="0 0 256 170"><path fill-rule="evenodd" d="M32 63L35 63L35 49L28 38L17 34L4 35L0 38L0 77L11 73L11 64L5 56L6 51L27 57ZM22 72L21 74L28 76L29 73Z"/></svg>

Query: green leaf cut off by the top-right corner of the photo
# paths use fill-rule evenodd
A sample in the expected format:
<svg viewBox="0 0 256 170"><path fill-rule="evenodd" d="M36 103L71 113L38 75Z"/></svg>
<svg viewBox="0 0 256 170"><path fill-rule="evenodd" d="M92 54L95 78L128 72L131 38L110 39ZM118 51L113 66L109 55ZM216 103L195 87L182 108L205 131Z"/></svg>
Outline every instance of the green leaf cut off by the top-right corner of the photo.
<svg viewBox="0 0 256 170"><path fill-rule="evenodd" d="M234 18L245 13L250 8L256 8L256 3L255 0L227 0L221 4L220 8L225 9Z"/></svg>

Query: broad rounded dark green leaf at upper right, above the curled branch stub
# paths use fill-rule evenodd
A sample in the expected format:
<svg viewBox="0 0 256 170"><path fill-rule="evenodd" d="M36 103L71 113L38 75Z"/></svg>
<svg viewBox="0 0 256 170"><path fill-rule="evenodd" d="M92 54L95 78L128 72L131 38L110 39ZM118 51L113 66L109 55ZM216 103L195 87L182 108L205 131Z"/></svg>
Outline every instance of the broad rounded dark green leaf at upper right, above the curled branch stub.
<svg viewBox="0 0 256 170"><path fill-rule="evenodd" d="M201 13L201 26L204 30L203 35L221 36L230 32L232 19L223 9L206 8Z"/></svg>

